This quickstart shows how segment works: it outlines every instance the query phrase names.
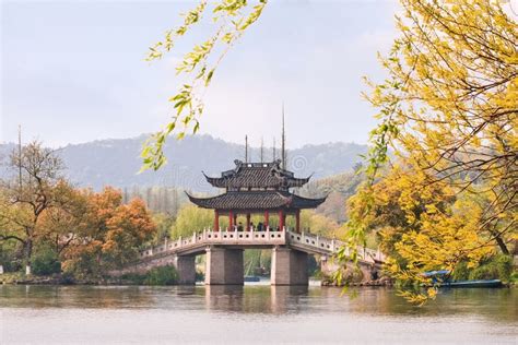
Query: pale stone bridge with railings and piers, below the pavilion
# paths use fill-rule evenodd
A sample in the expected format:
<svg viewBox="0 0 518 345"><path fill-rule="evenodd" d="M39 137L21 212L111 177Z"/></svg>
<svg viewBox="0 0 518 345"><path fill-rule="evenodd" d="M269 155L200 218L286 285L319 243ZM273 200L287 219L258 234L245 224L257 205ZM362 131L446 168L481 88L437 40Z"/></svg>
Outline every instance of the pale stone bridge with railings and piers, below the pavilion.
<svg viewBox="0 0 518 345"><path fill-rule="evenodd" d="M272 249L272 285L307 285L307 257L333 255L344 242L317 235L290 230L270 231L213 231L195 233L176 241L165 241L144 250L140 260L119 271L119 274L145 272L152 267L173 264L180 284L195 284L195 258L207 254L205 284L244 284L244 249ZM380 252L358 248L360 266L365 270L385 260Z"/></svg>

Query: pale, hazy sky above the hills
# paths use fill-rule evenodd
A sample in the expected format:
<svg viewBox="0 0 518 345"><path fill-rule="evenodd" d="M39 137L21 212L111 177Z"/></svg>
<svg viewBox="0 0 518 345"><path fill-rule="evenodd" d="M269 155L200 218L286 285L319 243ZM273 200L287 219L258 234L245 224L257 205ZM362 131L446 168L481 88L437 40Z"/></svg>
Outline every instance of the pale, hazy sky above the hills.
<svg viewBox="0 0 518 345"><path fill-rule="evenodd" d="M148 47L193 1L1 1L0 142L50 146L132 138L162 128L181 79L175 63L211 31L202 25L163 60ZM392 1L270 1L226 56L205 94L201 132L287 147L366 143L375 110L363 76L382 80L377 52L396 37Z"/></svg>

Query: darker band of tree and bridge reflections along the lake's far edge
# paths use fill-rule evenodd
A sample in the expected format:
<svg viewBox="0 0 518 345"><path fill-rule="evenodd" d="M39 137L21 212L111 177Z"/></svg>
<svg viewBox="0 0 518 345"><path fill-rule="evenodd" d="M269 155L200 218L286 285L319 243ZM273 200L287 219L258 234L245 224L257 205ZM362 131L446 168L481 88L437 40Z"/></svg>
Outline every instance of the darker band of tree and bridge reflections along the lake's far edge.
<svg viewBox="0 0 518 345"><path fill-rule="evenodd" d="M352 294L354 295L354 293ZM378 316L476 316L518 320L516 289L442 290L424 307L395 290L363 288L356 297L339 288L307 286L0 286L0 308L174 309L223 313L352 313Z"/></svg>

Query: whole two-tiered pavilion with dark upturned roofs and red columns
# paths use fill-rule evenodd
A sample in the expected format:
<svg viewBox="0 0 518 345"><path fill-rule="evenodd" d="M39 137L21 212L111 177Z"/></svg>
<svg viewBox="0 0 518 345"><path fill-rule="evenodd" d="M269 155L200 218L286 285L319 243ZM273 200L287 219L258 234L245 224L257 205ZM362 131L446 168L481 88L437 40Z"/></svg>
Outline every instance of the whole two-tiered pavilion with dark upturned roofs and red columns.
<svg viewBox="0 0 518 345"><path fill-rule="evenodd" d="M301 210L316 209L326 198L308 199L294 194L291 188L303 187L310 177L296 178L281 166L281 159L272 163L244 163L234 160L236 167L223 171L221 177L209 177L207 181L225 193L211 198L189 200L203 209L214 210L214 229L220 229L220 216L228 216L229 229L237 229L237 216L246 215L246 228L251 229L251 214L263 214L263 227L269 227L270 215L279 216L279 229L283 230L286 216L295 216L295 230L301 231Z"/></svg>

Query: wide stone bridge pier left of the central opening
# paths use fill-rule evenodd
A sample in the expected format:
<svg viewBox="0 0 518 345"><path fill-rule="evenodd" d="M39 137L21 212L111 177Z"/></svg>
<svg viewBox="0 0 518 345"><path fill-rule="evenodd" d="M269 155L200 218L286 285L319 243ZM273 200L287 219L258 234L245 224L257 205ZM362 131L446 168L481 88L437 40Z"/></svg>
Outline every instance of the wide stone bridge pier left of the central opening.
<svg viewBox="0 0 518 345"><path fill-rule="evenodd" d="M207 285L244 285L243 249L210 246L205 258Z"/></svg>

